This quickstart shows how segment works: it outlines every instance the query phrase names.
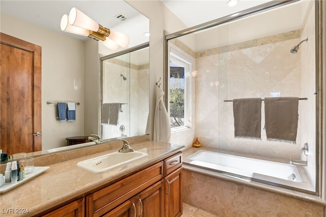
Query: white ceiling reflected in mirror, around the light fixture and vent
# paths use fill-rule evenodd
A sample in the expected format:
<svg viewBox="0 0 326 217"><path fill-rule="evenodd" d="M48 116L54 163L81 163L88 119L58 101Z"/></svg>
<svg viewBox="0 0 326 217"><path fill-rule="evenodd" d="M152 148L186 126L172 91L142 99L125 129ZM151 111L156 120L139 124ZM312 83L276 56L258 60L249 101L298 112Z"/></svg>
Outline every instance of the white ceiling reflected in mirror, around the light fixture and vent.
<svg viewBox="0 0 326 217"><path fill-rule="evenodd" d="M77 8L99 24L122 32L126 35L137 35L130 38L129 47L138 45L136 39L144 38L144 32L149 32L149 20L123 0L106 1L0 1L0 11L12 17L33 23L43 28L60 32L79 40L88 40L87 37L62 32L60 29L61 17L69 15L71 8ZM122 14L127 19L121 21L115 16ZM128 32L128 31L133 32ZM148 38L147 38L148 41ZM143 42L142 42L143 43Z"/></svg>

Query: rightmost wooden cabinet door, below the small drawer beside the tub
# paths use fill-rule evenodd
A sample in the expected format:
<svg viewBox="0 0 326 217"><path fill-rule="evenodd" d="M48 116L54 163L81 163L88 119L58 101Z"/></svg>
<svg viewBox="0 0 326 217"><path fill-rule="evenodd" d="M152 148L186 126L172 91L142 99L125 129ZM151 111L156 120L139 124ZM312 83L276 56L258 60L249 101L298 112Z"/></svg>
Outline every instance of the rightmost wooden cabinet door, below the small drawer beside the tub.
<svg viewBox="0 0 326 217"><path fill-rule="evenodd" d="M165 217L182 215L182 168L165 179Z"/></svg>

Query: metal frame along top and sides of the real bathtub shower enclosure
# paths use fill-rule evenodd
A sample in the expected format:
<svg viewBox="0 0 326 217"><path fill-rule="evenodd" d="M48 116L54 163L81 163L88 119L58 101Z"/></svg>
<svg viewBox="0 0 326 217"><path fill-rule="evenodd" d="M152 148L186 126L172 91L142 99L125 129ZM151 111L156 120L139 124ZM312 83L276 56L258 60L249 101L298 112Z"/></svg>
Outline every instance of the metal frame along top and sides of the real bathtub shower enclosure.
<svg viewBox="0 0 326 217"><path fill-rule="evenodd" d="M281 6L285 6L291 3L299 2L300 0L284 0L284 1L271 1L247 10L243 10L240 12L237 12L235 14L230 14L212 21L208 21L196 26L193 26L191 28L187 28L185 30L181 30L172 34L166 34L165 32L165 41L164 41L164 92L168 91L168 47L169 47L169 40L178 38L180 36L185 36L188 34L192 34L201 30L206 30L209 28L212 28L214 26L218 26L223 23L231 22L237 19L241 19L250 15L254 15L257 13L261 13L270 9L275 9ZM325 16L322 13L322 9L325 8L321 0L315 0L315 48L316 48L316 183L315 183L315 192L309 192L310 194L314 194L316 196L319 196L322 199L326 199L326 186L323 184L322 180L326 179L326 174L322 173L322 168L325 165L325 162L323 162L322 159L326 158L326 151L323 149L322 144L324 144L325 138L323 138L323 125L325 124L324 117L322 114L323 109L323 93L324 91L322 89L322 79L325 79L322 76L323 73L323 62L322 62L322 48L320 47L320 44L322 44L322 40L324 40L324 36L320 31L322 31L322 17L320 15ZM168 104L168 98L165 99L166 106ZM323 118L323 119L322 119ZM291 189L291 187L288 187ZM305 191L303 191L305 192Z"/></svg>

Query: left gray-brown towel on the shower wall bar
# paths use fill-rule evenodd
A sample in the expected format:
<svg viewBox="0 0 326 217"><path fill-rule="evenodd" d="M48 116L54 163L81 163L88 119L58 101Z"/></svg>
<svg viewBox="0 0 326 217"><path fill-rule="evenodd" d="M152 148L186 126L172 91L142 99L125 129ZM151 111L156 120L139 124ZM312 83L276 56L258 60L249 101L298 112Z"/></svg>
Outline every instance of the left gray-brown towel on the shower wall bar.
<svg viewBox="0 0 326 217"><path fill-rule="evenodd" d="M261 139L261 98L233 99L234 137Z"/></svg>

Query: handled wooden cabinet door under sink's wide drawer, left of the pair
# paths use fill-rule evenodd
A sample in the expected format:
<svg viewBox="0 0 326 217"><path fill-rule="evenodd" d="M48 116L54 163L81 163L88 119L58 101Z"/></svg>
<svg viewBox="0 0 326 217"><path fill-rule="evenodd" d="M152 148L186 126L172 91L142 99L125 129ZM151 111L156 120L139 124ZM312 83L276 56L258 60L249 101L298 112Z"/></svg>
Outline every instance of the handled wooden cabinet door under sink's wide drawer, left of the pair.
<svg viewBox="0 0 326 217"><path fill-rule="evenodd" d="M117 208L103 215L105 217L134 217L136 213L135 198L124 202Z"/></svg>

